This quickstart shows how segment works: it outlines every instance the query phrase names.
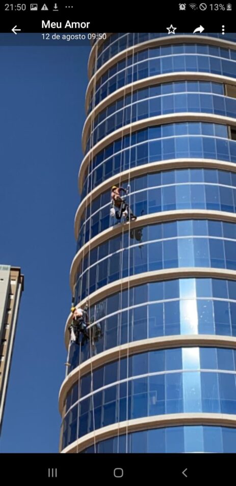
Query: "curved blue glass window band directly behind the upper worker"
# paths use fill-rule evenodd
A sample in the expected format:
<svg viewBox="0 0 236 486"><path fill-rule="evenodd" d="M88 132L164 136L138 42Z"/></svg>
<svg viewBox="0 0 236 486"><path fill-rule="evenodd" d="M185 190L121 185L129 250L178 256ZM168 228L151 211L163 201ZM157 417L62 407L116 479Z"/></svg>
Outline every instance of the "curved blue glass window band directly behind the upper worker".
<svg viewBox="0 0 236 486"><path fill-rule="evenodd" d="M236 174L233 172L217 169L145 172L143 176L130 179L129 185L127 200L138 217L180 209L236 212ZM120 221L114 222L110 216L110 205L110 188L90 200L90 205L81 215L77 251L104 229L122 224Z"/></svg>

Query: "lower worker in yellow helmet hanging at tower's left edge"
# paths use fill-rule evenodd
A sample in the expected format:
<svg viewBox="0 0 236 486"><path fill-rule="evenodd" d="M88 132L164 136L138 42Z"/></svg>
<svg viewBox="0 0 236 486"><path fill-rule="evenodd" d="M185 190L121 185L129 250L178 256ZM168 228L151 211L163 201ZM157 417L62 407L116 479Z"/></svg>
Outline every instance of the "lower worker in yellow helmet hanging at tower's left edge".
<svg viewBox="0 0 236 486"><path fill-rule="evenodd" d="M80 336L83 336L82 345L89 339L89 319L88 319L88 306L84 309L81 307L71 307L72 322L69 327L71 341L79 344Z"/></svg>

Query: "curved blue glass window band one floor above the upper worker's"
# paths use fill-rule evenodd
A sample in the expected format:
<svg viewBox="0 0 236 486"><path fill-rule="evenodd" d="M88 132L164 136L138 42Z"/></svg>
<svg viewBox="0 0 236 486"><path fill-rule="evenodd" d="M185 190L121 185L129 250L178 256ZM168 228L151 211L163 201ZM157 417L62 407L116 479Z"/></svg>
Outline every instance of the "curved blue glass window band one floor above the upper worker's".
<svg viewBox="0 0 236 486"><path fill-rule="evenodd" d="M236 162L236 141L226 125L173 123L145 128L119 138L94 156L85 171L82 199L109 177L133 167L174 158Z"/></svg>

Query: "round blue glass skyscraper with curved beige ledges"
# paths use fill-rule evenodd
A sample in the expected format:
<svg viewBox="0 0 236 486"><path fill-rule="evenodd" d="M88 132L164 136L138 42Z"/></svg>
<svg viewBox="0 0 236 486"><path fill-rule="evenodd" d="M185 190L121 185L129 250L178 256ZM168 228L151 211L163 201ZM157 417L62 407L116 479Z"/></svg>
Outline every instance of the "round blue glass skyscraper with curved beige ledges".
<svg viewBox="0 0 236 486"><path fill-rule="evenodd" d="M60 451L236 452L236 36L111 33L88 71Z"/></svg>

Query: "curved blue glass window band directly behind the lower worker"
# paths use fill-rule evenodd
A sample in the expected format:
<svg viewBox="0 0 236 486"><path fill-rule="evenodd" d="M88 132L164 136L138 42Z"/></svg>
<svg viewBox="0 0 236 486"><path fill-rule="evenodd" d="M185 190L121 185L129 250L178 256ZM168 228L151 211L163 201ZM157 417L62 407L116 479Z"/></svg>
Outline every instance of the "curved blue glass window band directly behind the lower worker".
<svg viewBox="0 0 236 486"><path fill-rule="evenodd" d="M120 286L116 293L97 300L90 307L90 316L99 322L102 334L92 347L89 342L81 346L71 343L68 373L94 355L141 338L236 336L236 284L217 276L150 282L124 290Z"/></svg>

